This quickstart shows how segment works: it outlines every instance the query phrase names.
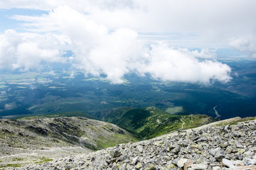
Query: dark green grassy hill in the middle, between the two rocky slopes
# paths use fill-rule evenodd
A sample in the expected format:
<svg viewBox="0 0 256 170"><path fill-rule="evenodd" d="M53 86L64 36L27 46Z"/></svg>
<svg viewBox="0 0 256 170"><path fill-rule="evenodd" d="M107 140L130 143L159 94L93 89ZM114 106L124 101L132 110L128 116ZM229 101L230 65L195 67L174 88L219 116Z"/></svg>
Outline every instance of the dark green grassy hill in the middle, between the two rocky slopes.
<svg viewBox="0 0 256 170"><path fill-rule="evenodd" d="M207 115L171 115L155 107L126 109L110 113L103 120L119 125L144 139L180 128L194 128L214 121Z"/></svg>

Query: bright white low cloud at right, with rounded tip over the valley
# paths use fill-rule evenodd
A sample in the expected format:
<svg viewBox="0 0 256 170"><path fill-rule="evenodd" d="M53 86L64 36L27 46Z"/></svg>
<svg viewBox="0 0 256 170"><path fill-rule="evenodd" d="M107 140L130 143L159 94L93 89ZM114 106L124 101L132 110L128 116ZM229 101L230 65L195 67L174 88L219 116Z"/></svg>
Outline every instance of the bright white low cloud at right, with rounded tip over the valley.
<svg viewBox="0 0 256 170"><path fill-rule="evenodd" d="M198 60L195 53L198 52L153 45L147 56L148 62L139 68L139 72L149 73L154 79L163 81L208 84L214 80L227 82L231 79L228 65L214 60Z"/></svg>

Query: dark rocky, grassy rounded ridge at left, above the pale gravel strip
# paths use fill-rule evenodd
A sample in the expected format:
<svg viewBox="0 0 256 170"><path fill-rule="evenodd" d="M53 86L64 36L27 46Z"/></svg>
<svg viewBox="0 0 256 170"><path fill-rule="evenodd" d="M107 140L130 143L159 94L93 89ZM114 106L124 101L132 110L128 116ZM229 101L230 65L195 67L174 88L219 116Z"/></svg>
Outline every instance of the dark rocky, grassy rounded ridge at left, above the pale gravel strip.
<svg viewBox="0 0 256 170"><path fill-rule="evenodd" d="M89 149L136 140L134 135L117 125L82 117L0 120L0 123L1 140L6 141L6 137L10 137L16 147L28 147L23 141L18 141L22 137L34 142L33 147L75 145ZM109 145L104 144L105 141Z"/></svg>

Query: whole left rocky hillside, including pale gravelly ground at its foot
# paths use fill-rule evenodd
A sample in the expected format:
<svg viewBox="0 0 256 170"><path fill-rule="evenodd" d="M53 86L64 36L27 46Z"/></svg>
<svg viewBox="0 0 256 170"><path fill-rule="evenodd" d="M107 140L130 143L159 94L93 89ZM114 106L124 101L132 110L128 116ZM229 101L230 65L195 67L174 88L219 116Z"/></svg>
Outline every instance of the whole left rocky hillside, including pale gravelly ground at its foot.
<svg viewBox="0 0 256 170"><path fill-rule="evenodd" d="M42 163L135 141L117 125L82 117L0 119L0 168L8 165L1 162Z"/></svg>

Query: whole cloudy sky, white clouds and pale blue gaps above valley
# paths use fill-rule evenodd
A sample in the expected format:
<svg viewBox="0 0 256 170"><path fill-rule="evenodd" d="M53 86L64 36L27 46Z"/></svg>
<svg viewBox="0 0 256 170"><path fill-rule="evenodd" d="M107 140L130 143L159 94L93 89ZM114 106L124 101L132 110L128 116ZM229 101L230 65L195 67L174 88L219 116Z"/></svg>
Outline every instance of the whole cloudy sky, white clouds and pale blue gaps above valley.
<svg viewBox="0 0 256 170"><path fill-rule="evenodd" d="M114 84L130 73L225 83L232 68L216 51L256 59L255 8L255 0L0 0L0 72L68 64Z"/></svg>

